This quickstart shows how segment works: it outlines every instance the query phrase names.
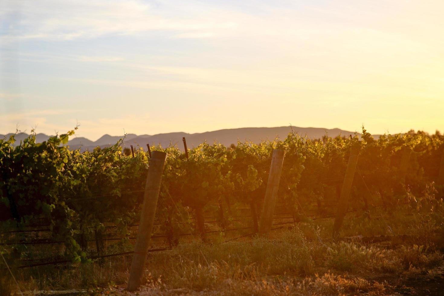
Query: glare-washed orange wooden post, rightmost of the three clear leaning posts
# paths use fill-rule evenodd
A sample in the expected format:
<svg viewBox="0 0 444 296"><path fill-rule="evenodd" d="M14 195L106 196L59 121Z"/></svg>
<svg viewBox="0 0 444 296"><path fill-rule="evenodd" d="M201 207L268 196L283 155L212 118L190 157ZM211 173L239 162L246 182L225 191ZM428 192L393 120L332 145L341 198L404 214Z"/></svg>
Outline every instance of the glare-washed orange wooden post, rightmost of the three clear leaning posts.
<svg viewBox="0 0 444 296"><path fill-rule="evenodd" d="M350 191L352 189L353 178L355 175L356 165L358 162L359 149L352 147L350 150L349 163L345 171L344 182L342 183L341 196L339 197L339 204L337 208L336 217L333 225L333 238L336 239L339 235L342 222L344 221L345 212L349 205Z"/></svg>

